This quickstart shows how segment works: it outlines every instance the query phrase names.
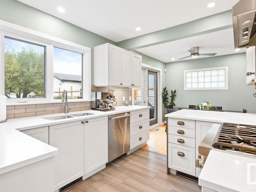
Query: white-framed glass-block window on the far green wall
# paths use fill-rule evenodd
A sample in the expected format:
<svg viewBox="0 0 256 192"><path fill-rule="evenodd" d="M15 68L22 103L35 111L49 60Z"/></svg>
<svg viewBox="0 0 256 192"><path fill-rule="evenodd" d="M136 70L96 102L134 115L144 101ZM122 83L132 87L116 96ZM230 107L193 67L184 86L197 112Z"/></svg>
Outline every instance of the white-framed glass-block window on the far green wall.
<svg viewBox="0 0 256 192"><path fill-rule="evenodd" d="M227 90L228 67L185 70L184 90Z"/></svg>

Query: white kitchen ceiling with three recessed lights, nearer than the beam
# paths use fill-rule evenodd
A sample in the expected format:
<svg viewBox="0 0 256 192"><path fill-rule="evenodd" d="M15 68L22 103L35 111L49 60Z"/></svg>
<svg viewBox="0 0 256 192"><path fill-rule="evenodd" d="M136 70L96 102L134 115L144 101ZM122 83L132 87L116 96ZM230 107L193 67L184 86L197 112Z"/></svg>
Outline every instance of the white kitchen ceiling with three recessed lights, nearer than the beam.
<svg viewBox="0 0 256 192"><path fill-rule="evenodd" d="M230 10L238 0L18 0L116 42ZM214 8L207 8L215 2ZM66 9L57 12L57 7ZM141 31L135 31L141 27Z"/></svg>

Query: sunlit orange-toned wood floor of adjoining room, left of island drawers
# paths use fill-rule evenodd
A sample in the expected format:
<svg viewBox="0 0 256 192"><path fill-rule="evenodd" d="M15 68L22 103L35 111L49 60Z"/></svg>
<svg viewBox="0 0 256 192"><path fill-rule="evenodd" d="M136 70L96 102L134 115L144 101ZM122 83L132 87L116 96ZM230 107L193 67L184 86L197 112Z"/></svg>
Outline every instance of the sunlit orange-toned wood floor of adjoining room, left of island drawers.
<svg viewBox="0 0 256 192"><path fill-rule="evenodd" d="M150 130L150 140L148 140L147 144L142 146L141 149L166 155L165 126L165 124L162 124ZM154 131L155 129L159 130Z"/></svg>

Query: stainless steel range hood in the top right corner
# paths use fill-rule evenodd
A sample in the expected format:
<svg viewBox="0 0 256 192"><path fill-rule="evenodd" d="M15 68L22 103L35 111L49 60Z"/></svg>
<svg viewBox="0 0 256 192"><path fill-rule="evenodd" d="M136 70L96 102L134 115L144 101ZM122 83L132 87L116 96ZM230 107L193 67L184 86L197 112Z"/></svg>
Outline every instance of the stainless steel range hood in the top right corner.
<svg viewBox="0 0 256 192"><path fill-rule="evenodd" d="M256 45L256 0L240 0L233 8L234 47Z"/></svg>

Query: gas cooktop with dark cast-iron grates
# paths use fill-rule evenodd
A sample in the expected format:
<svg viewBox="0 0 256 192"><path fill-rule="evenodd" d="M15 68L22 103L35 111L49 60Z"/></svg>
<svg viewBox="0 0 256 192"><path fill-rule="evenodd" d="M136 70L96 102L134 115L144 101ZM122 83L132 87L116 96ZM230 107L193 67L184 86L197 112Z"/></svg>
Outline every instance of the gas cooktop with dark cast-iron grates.
<svg viewBox="0 0 256 192"><path fill-rule="evenodd" d="M223 123L212 144L212 150L225 150L256 159L256 126Z"/></svg>

